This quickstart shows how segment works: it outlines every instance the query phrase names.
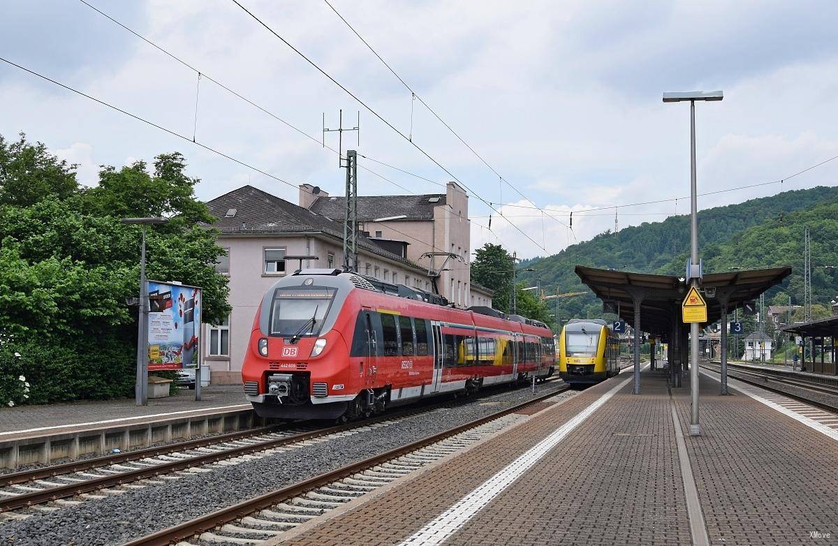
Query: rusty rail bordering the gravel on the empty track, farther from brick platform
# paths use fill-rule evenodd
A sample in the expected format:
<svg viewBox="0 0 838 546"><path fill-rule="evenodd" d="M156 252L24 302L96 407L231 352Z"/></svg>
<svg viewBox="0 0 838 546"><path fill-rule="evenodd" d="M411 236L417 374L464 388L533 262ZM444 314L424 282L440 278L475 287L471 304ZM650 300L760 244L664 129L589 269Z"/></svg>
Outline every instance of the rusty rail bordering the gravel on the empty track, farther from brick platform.
<svg viewBox="0 0 838 546"><path fill-rule="evenodd" d="M556 394L560 394L570 387L568 385L564 385L561 389L556 389L551 391L548 394L542 394L541 396L535 397L534 399L527 400L521 404L515 404L510 408L501 409L499 411L494 412L491 415L486 415L484 417L479 418L478 420L470 421L464 425L458 425L448 430L443 430L434 435L427 436L422 440L416 440L407 444L406 446L397 447L390 451L385 451L384 453L380 453L379 455L372 456L368 459L364 459L363 461L357 461L354 463L350 463L349 465L342 466L334 471L328 471L318 476L313 476L308 478L308 480L303 480L303 482L293 483L290 486L282 487L282 489L277 489L277 491L268 492L258 497L253 497L249 500L244 502L239 502L230 507L222 508L220 510L216 510L215 512L211 512L208 514L204 514L204 516L200 516L199 518L195 518L188 522L181 523L171 528L163 529L158 531L157 533L149 534L142 538L137 538L136 540L132 540L131 542L123 544L123 546L168 546L168 544L178 542L180 540L185 540L197 533L203 533L204 531L209 531L209 529L215 528L221 524L229 523L234 521L238 518L243 518L249 513L254 513L257 510L262 510L267 507L271 507L278 502L282 502L283 500L291 497L297 497L304 492L308 492L312 489L316 489L317 487L322 487L328 483L335 482L336 480L342 479L346 476L351 476L359 471L366 470L371 466L377 466L385 461L389 461L399 456L406 455L411 451L416 451L421 449L422 447L429 446L431 444L435 444L440 440L444 440L450 436L458 435L459 433L463 432L464 430L473 429L479 425L483 425L484 423L488 423L491 420L496 420L499 417L503 417L504 415L508 415L511 413L515 413L516 411L525 408L531 404L537 404L542 400L551 398L552 396L556 396Z"/></svg>

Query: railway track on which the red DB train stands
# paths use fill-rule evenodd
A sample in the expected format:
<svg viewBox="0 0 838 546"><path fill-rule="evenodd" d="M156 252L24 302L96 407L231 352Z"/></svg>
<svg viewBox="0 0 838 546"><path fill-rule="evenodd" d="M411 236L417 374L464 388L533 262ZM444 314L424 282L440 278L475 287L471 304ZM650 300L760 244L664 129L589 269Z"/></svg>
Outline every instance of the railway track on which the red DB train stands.
<svg viewBox="0 0 838 546"><path fill-rule="evenodd" d="M555 379L548 379L553 381ZM510 389L486 389L476 398L506 392ZM432 404L411 406L367 420L344 425L314 427L307 423L272 425L226 435L187 440L138 451L96 457L85 461L19 471L0 476L0 514L6 518L26 518L14 510L51 511L74 506L85 500L117 495L127 489L160 483L160 479L177 479L184 472L208 471L202 466L237 464L247 457L270 455L295 446L325 441L329 437L390 425L411 415L442 407L464 404L475 399L447 399ZM158 479L159 476L159 479ZM75 498L73 498L75 497ZM53 503L53 506L44 506Z"/></svg>

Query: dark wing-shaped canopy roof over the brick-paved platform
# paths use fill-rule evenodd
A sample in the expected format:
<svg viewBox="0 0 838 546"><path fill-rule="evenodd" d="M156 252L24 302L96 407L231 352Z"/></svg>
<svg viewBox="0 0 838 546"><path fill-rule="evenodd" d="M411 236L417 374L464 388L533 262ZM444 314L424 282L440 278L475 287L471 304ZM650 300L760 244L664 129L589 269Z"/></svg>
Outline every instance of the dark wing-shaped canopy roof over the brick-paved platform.
<svg viewBox="0 0 838 546"><path fill-rule="evenodd" d="M576 274L594 294L605 302L618 306L620 318L634 324L634 301L640 301L641 330L656 335L667 335L678 318L687 284L679 277L649 275L577 265ZM745 301L759 297L768 288L791 275L791 267L772 267L758 270L737 270L711 273L704 276L701 288L707 302L707 321L722 317L722 301L727 300L727 312L741 307ZM709 296L707 289L715 289Z"/></svg>

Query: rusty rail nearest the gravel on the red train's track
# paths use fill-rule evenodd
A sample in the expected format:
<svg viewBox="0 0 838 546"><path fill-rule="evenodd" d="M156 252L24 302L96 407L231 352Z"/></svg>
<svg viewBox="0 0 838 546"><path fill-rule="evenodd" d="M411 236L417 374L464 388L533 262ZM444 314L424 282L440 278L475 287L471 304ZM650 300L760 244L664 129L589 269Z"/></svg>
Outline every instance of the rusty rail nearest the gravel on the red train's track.
<svg viewBox="0 0 838 546"><path fill-rule="evenodd" d="M498 394L498 391L504 390L508 389L503 389L503 386L499 385L498 389L487 389L483 392L485 395L492 395ZM482 397L478 395L477 398ZM312 438L318 438L323 435L331 435L338 432L344 432L345 430L352 430L354 428L359 428L363 426L375 425L375 423L379 423L380 421L400 419L410 415L416 415L418 413L426 412L432 409L450 406L452 404L464 404L473 399L473 397L461 397L459 399L446 399L441 402L437 402L436 404L427 404L419 406L411 405L411 407L409 408L385 412L382 415L376 415L375 417L372 417L370 419L352 421L343 425L334 425L323 429L303 432L296 435L284 436L282 438L277 438L276 440L266 440L258 444L231 447L229 449L225 449L224 451L193 456L189 457L189 459L184 459L182 461L170 461L155 466L148 466L147 468L138 468L134 471L124 471L118 474L91 478L90 480L85 480L84 482L69 483L67 485L57 487L46 487L41 491L21 493L15 497L3 497L0 498L0 513L8 512L9 510L15 510L18 508L33 506L35 504L40 504L43 502L54 501L60 498L73 497L81 493L119 486L124 483L136 482L137 480L158 476L160 474L168 474L172 472L182 471L193 466L203 466L216 461L230 459L235 456L249 455L257 451L266 451L274 447L286 446L287 444L292 444L304 440L311 440ZM298 425L299 423L296 424ZM207 441L209 442L209 445L223 443L223 441L220 442L218 440L217 436L201 439L201 441ZM183 448L180 448L175 451L183 451ZM111 461L109 464L114 464L114 462ZM49 470L49 467L38 470L47 471Z"/></svg>

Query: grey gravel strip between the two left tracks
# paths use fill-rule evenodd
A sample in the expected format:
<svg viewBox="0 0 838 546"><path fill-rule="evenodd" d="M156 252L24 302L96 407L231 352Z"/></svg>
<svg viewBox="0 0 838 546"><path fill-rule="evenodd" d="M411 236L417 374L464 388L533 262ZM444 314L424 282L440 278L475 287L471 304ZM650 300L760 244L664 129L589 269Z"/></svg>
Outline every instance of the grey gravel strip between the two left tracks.
<svg viewBox="0 0 838 546"><path fill-rule="evenodd" d="M23 546L89 546L121 544L188 519L197 518L248 498L274 491L350 462L404 446L513 404L555 390L551 382L515 389L453 408L412 415L391 425L330 438L311 446L245 461L235 466L211 466L179 480L128 490L75 507L0 523L0 544ZM566 398L571 390L560 394Z"/></svg>

